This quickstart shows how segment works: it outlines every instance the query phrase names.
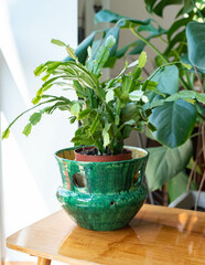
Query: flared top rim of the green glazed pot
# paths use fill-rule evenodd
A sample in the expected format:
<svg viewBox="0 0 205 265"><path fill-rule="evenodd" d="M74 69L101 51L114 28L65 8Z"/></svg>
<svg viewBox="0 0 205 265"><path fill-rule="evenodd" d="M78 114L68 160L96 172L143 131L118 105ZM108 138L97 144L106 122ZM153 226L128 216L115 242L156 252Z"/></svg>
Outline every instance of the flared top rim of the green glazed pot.
<svg viewBox="0 0 205 265"><path fill-rule="evenodd" d="M88 147L88 146L85 146L85 147ZM89 146L89 147L90 147L90 146ZM143 149L143 148L140 148L140 147L123 146L123 148L130 149L132 152L133 152L134 150L141 150L142 152L144 152L144 156L143 156L143 157L139 157L139 158L131 158L131 159L129 159L129 160L109 161L109 162L76 161L76 160L72 160L72 159L67 159L67 158L62 158L62 157L57 156L57 153L61 152L61 151L75 150L75 149L78 149L78 148L82 148L82 146L63 148L63 149L60 149L60 150L57 150L56 152L54 152L54 156L55 156L56 159L63 159L63 160L71 161L71 162L78 162L78 163L106 163L106 165L109 165L109 163L122 163L122 162L128 162L128 161L134 161L134 160L144 159L144 158L149 157L149 153L150 153L147 149Z"/></svg>

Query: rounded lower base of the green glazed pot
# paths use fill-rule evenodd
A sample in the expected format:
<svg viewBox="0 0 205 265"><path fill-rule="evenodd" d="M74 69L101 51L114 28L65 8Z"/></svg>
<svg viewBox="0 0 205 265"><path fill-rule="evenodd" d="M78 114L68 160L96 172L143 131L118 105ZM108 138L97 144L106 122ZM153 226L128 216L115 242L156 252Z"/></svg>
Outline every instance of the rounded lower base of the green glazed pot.
<svg viewBox="0 0 205 265"><path fill-rule="evenodd" d="M75 193L63 187L57 191L57 199L69 216L79 226L95 231L111 231L126 226L140 210L145 198L145 186L109 194Z"/></svg>

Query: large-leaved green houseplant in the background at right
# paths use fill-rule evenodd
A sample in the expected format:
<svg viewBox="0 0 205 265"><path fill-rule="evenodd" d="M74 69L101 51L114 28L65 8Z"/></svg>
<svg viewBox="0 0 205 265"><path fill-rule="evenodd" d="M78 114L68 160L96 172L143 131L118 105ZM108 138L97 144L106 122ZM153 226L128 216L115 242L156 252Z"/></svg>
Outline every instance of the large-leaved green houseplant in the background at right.
<svg viewBox="0 0 205 265"><path fill-rule="evenodd" d="M166 6L174 3L176 2L145 1L148 11L157 15L162 15L163 9ZM111 57L106 64L107 66L112 67L116 60L120 59L125 54L132 55L140 53L145 45L155 52L157 65L179 60L192 65L191 70L182 70L175 66L165 67L153 78L159 82L158 89L165 93L166 96L181 91L181 95L179 94L176 96L179 98L176 103L166 102L163 106L157 107L150 117L154 126L158 128L152 137L163 144L163 147L151 149L151 157L153 155L155 159L150 159L148 165L148 182L150 189L155 190L172 179L168 186L171 201L186 190L187 186L191 186L191 179L194 179L198 187L202 187L204 182L204 166L198 156L202 149L194 150L194 157L191 159L193 156L193 148L192 142L187 140L194 138L196 142L204 142L202 138L204 130L204 88L203 85L197 87L197 84L203 83L204 60L201 60L199 64L196 61L198 61L197 59L199 57L204 59L204 38L202 35L204 30L202 22L204 21L205 8L202 1L177 1L177 3L181 4L181 11L168 30L164 30L161 25L157 24L153 19L140 21L108 10L102 10L96 15L97 22L110 22L115 24L114 28L105 30L105 35L112 33L118 40L120 30L129 30L137 36L136 42L128 43L126 46L120 49L117 46L117 41L115 49L112 50ZM194 23L192 21L199 21L201 23ZM190 29L190 42L187 42L185 33L185 28L188 23L190 26L187 29ZM195 29L193 30L193 28ZM93 43L94 46L98 45L98 41L94 39L94 35L97 33L98 32L93 32L87 38L87 41ZM160 52L158 46L151 43L152 39L155 38L165 43L163 52ZM199 45L201 47L195 49L194 45ZM190 46L188 54L187 46ZM197 51L199 51L199 53L197 53ZM193 57L193 55L195 57ZM169 76L171 76L171 78ZM202 82L197 82L198 77ZM201 94L197 96L199 102L194 103L195 92L199 92ZM159 95L154 99L158 99L158 97ZM186 98L187 103L184 105L184 103L180 100L180 97ZM191 100L188 100L187 97L190 97ZM184 112L185 109L186 112ZM183 116L181 115L182 113ZM161 115L161 118L159 118L159 115ZM183 132L181 128L179 128L179 124L182 125ZM192 132L194 127L195 130ZM198 161L198 159L201 161ZM161 161L160 168L158 167L159 161ZM188 163L188 161L191 162ZM158 168L158 171L153 171L153 167ZM186 167L192 169L190 172L190 180L184 171ZM174 184L176 182L181 184ZM192 188L194 188L193 184Z"/></svg>

